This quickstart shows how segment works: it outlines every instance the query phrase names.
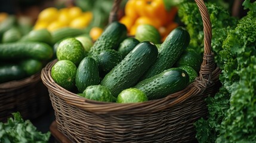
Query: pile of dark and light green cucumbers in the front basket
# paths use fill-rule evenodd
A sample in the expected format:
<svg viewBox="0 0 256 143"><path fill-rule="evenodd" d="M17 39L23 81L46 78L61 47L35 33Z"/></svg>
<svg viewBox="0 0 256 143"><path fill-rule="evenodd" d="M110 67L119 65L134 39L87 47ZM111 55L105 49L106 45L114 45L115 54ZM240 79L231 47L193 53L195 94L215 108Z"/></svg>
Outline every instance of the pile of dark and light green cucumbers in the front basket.
<svg viewBox="0 0 256 143"><path fill-rule="evenodd" d="M190 35L184 27L172 30L163 43L135 37L127 36L124 24L115 21L86 54L77 39L64 39L51 76L81 97L122 103L164 98L198 76L201 55L187 49Z"/></svg>

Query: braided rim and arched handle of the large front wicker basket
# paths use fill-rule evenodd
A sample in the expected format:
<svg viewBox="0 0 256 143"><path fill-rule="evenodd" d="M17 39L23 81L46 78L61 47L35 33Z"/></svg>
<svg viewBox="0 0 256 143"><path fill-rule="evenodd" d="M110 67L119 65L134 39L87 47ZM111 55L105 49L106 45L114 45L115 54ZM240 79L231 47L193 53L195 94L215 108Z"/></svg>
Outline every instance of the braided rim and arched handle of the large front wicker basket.
<svg viewBox="0 0 256 143"><path fill-rule="evenodd" d="M211 21L209 20L208 11L203 0L195 1L202 15L203 32L205 35L203 62L199 76L196 78L195 82L191 83L182 91L175 92L174 94L168 95L159 100L150 100L140 103L120 104L115 102L88 100L76 95L75 93L67 91L54 82L53 78L51 77L51 67L57 62L57 59L51 61L47 64L47 66L44 67L44 69L42 69L42 82L47 86L49 91L66 101L67 104L98 114L134 114L142 112L153 113L180 104L181 102L184 102L195 95L203 94L208 86L213 85L218 80L220 69L218 69L214 63L214 54L211 51ZM110 13L110 22L115 21L116 13L118 11L117 7L119 7L120 2L121 0L114 1L112 12Z"/></svg>

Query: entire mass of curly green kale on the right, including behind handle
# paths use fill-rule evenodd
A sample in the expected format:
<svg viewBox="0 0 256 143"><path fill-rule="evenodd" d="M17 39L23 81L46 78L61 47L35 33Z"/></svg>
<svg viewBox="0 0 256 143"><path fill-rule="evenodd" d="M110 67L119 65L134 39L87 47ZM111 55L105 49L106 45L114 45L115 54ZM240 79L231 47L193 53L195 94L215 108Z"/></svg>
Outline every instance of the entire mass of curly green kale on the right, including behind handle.
<svg viewBox="0 0 256 143"><path fill-rule="evenodd" d="M215 61L222 69L222 86L214 97L206 100L208 117L196 123L199 142L254 142L256 139L255 6L256 2L244 1L248 14L236 20L221 5L206 4L211 14ZM199 47L197 51L201 51L198 43L203 43L202 30L198 29L202 26L198 27L198 23L202 20L196 15L199 13L196 4L185 2L179 8L181 21L187 24L194 41L190 47Z"/></svg>

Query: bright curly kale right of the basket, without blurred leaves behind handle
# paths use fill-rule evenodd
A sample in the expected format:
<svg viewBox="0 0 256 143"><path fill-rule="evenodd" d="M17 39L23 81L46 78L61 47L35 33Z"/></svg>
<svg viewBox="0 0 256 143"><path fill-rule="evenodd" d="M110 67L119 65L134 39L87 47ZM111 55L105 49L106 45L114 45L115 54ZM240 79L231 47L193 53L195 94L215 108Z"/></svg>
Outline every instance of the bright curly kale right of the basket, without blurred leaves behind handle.
<svg viewBox="0 0 256 143"><path fill-rule="evenodd" d="M256 140L256 2L245 0L248 15L235 28L213 37L220 54L223 83L215 97L209 97L209 116L196 122L200 142L254 142ZM222 44L221 44L222 43ZM222 48L222 49L221 49ZM215 51L216 52L216 51Z"/></svg>

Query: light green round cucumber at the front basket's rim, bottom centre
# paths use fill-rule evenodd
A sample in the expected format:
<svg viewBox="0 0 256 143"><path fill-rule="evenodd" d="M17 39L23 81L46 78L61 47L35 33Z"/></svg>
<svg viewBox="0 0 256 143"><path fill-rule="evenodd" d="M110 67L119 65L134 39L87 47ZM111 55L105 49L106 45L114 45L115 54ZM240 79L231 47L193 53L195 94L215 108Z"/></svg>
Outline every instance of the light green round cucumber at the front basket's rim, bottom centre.
<svg viewBox="0 0 256 143"><path fill-rule="evenodd" d="M132 103L132 102L144 102L147 101L147 95L137 88L124 89L116 100L118 103Z"/></svg>

